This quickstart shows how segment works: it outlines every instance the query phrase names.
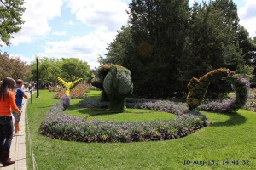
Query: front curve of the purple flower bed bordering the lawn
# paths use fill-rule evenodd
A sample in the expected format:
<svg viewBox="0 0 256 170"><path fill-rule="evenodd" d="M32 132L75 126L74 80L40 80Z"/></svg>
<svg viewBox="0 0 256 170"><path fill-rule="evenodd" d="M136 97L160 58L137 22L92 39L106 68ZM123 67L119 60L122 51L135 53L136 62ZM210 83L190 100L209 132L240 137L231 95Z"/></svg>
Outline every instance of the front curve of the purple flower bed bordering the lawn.
<svg viewBox="0 0 256 170"><path fill-rule="evenodd" d="M90 99L92 100L95 99ZM157 101L154 103L157 104ZM138 104L137 101L136 105ZM154 107L154 110L157 110L157 107ZM40 133L52 139L71 141L138 142L177 139L208 125L206 117L196 111L183 111L183 113L177 111L178 116L175 119L150 122L89 121L86 118L68 116L62 111L61 101L56 103L44 117Z"/></svg>

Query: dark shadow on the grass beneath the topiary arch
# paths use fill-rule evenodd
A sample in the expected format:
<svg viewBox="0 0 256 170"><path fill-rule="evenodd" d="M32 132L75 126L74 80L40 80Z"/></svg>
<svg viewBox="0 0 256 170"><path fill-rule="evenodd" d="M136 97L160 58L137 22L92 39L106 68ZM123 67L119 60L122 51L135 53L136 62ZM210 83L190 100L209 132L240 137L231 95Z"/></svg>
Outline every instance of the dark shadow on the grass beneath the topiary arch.
<svg viewBox="0 0 256 170"><path fill-rule="evenodd" d="M224 114L224 113L220 113ZM229 116L230 118L224 122L214 122L212 123L212 127L224 127L224 126L236 126L241 125L247 121L247 118L245 116L241 116L239 113L231 112L231 113L225 113L224 115Z"/></svg>

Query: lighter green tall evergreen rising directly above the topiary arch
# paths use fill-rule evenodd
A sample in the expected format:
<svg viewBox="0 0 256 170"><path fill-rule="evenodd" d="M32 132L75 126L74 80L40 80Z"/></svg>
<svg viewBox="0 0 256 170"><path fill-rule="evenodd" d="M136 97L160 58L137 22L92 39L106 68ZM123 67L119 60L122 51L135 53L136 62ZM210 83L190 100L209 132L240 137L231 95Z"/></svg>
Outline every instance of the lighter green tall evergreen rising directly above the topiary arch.
<svg viewBox="0 0 256 170"><path fill-rule="evenodd" d="M187 82L220 67L236 71L242 61L235 41L238 21L236 5L231 1L194 3L180 80Z"/></svg>

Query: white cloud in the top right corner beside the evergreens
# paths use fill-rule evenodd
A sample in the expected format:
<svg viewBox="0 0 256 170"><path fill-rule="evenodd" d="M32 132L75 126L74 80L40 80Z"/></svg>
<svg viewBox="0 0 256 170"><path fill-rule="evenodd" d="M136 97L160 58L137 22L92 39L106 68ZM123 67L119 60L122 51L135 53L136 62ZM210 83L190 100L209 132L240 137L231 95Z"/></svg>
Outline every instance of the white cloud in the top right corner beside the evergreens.
<svg viewBox="0 0 256 170"><path fill-rule="evenodd" d="M250 37L256 36L256 1L247 0L242 8L238 9L240 24L244 26L250 34Z"/></svg>

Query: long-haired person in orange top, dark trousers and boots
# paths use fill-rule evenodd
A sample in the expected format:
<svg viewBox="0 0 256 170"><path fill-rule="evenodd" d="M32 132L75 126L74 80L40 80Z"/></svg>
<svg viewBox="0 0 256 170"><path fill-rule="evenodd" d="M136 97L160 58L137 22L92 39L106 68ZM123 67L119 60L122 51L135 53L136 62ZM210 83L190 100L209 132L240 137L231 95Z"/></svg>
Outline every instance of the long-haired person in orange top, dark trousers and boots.
<svg viewBox="0 0 256 170"><path fill-rule="evenodd" d="M14 124L11 111L21 114L15 104L15 80L5 77L0 87L0 161L3 166L14 164L9 158L9 150L12 144Z"/></svg>

